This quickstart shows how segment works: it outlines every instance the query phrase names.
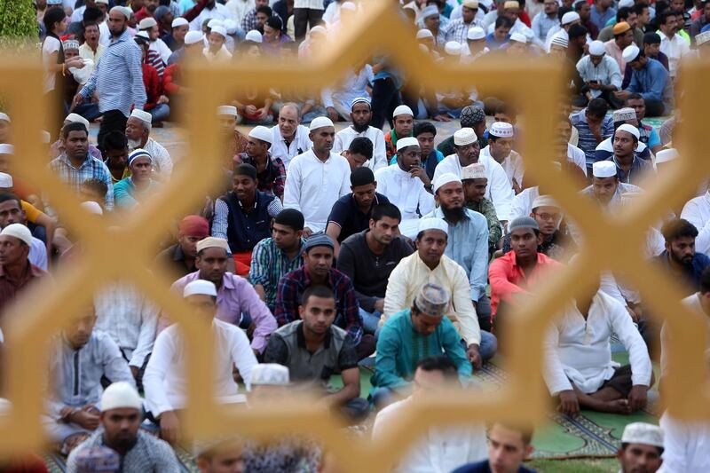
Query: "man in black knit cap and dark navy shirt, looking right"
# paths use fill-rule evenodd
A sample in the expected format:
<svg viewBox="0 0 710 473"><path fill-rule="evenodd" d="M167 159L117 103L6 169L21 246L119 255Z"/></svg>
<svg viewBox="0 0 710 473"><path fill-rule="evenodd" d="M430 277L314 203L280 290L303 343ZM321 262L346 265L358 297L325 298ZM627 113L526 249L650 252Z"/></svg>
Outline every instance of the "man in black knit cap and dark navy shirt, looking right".
<svg viewBox="0 0 710 473"><path fill-rule="evenodd" d="M383 194L375 192L377 183L369 168L355 169L350 184L352 192L335 201L327 217L326 234L335 242L335 257L343 240L367 229L376 205L390 203Z"/></svg>

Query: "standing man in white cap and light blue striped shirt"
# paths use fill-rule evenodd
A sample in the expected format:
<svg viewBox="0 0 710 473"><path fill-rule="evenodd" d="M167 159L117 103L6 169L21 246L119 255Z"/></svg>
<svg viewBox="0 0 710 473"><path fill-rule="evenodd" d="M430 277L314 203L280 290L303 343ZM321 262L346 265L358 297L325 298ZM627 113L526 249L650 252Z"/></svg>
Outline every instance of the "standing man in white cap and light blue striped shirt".
<svg viewBox="0 0 710 473"><path fill-rule="evenodd" d="M97 138L99 149L106 133L126 127L131 107L142 110L146 105L142 52L127 28L130 15L130 8L123 6L114 6L108 13L111 43L89 81L74 98L74 106L79 106L90 100L94 92L99 94L99 111L103 114Z"/></svg>

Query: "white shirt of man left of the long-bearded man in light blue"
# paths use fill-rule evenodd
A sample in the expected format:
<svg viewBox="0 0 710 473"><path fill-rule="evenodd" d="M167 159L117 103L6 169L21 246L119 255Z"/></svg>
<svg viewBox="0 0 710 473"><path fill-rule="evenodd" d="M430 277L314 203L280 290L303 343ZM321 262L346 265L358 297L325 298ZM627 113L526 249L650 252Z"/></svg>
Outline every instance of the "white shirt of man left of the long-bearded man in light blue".
<svg viewBox="0 0 710 473"><path fill-rule="evenodd" d="M424 189L422 179L412 177L398 163L379 169L375 173L375 181L377 192L402 212L402 222L420 218L434 209L434 196Z"/></svg>

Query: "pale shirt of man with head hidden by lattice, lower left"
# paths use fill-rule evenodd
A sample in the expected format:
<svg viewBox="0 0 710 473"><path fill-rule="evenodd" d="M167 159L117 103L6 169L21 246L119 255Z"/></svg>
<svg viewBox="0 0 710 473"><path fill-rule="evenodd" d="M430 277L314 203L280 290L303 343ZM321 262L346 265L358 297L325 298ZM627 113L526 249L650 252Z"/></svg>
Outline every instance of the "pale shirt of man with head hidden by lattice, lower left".
<svg viewBox="0 0 710 473"><path fill-rule="evenodd" d="M130 367L142 367L153 350L158 308L128 282L115 282L99 292L94 307L96 327L111 336Z"/></svg>

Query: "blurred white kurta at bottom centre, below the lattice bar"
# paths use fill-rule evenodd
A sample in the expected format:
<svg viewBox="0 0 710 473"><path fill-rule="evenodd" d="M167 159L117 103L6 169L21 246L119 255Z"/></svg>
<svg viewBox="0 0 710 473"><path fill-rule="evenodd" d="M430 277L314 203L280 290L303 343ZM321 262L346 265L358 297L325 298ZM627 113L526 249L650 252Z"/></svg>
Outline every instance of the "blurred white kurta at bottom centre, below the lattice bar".
<svg viewBox="0 0 710 473"><path fill-rule="evenodd" d="M373 425L372 438L376 443L383 434L397 425L399 416L412 401L406 398L385 407ZM448 473L463 464L485 460L488 447L485 427L469 426L433 427L405 453L393 471L406 473Z"/></svg>

